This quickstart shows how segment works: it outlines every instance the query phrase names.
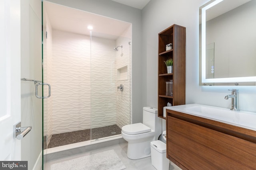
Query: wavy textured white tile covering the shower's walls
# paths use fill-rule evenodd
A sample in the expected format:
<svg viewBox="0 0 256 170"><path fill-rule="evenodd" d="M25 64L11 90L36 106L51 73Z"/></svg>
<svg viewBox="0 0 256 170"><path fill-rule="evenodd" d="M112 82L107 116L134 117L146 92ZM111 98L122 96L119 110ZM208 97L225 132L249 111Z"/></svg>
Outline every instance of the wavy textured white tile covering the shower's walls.
<svg viewBox="0 0 256 170"><path fill-rule="evenodd" d="M48 131L58 134L130 124L129 39L117 40L126 44L121 57L121 49L113 50L114 40L92 37L90 53L88 36L58 30L52 35L52 58L47 59L46 77L52 86L47 102ZM125 65L128 80L117 81L117 68ZM125 86L122 93L116 88L120 83Z"/></svg>

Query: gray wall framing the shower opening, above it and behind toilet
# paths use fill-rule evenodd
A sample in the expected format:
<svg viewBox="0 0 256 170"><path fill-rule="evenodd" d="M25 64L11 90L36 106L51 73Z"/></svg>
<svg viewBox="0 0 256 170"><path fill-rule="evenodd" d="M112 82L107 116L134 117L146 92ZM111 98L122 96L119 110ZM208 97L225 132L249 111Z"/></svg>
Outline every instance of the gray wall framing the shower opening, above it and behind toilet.
<svg viewBox="0 0 256 170"><path fill-rule="evenodd" d="M111 0L47 1L132 23L132 123L142 122L142 10Z"/></svg>

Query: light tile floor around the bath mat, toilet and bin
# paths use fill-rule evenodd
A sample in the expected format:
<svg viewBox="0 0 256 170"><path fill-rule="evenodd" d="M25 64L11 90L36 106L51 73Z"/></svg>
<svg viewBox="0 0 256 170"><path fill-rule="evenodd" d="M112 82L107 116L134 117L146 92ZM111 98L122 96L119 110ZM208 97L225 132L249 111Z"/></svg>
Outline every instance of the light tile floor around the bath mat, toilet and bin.
<svg viewBox="0 0 256 170"><path fill-rule="evenodd" d="M151 164L151 156L146 157L146 158L142 158L142 159L137 159L137 160L129 159L126 155L126 153L127 153L127 143L121 143L121 144L114 145L114 146L111 146L111 147L105 147L105 148L102 148L102 149L97 149L97 150L92 150L90 152L85 152L83 154L76 154L74 156L69 156L69 157L66 157L66 158L53 160L53 161L47 162L45 164L44 170L50 170L50 166L52 164L55 164L55 163L63 162L63 161L70 160L70 159L75 159L75 158L86 156L86 155L89 155L89 154L103 152L103 151L106 151L106 150L112 150L112 149L114 149L116 154L119 156L119 158L122 160L122 162L126 166L125 170L156 170L154 168L154 166L152 166L152 164ZM181 170L181 169L170 161L169 170Z"/></svg>

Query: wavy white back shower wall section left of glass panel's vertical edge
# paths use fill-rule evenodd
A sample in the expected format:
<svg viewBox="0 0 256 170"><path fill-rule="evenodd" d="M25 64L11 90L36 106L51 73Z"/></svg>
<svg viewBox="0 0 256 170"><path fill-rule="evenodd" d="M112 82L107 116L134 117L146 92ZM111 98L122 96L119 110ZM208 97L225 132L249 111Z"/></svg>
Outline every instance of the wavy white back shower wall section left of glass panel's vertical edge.
<svg viewBox="0 0 256 170"><path fill-rule="evenodd" d="M53 134L90 128L90 37L53 30Z"/></svg>

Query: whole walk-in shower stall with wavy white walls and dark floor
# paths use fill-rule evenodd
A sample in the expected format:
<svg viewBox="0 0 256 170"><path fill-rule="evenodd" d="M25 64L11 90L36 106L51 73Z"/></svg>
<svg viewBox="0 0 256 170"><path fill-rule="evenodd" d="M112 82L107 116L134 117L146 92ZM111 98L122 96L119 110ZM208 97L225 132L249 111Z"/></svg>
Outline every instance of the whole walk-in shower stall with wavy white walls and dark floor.
<svg viewBox="0 0 256 170"><path fill-rule="evenodd" d="M131 120L131 25L122 35L59 29L52 6L58 5L44 1L43 78L51 84L43 109L44 149L120 135Z"/></svg>

